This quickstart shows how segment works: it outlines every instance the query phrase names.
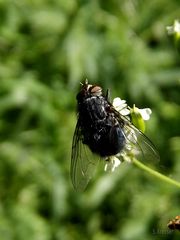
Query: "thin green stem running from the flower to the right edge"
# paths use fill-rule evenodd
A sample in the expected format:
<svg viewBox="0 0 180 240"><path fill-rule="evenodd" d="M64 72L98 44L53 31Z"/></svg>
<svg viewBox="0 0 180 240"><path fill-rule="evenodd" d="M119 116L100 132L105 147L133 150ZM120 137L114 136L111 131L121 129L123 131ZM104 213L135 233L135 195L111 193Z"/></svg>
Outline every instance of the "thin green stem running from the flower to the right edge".
<svg viewBox="0 0 180 240"><path fill-rule="evenodd" d="M172 184L176 187L180 188L180 182L177 182L176 180L169 178L165 175L163 175L162 173L159 173L155 170L153 170L152 168L147 167L146 165L144 165L143 163L139 162L137 159L133 159L132 161L138 168L143 169L144 171L150 173L151 175L153 175L154 177L159 178L161 181L167 182L169 184Z"/></svg>

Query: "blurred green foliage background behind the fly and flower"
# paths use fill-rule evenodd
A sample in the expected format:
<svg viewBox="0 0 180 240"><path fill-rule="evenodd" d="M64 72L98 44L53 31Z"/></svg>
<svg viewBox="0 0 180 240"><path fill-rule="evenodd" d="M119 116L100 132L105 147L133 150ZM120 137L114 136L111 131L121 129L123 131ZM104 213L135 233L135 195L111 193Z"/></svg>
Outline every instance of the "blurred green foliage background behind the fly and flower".
<svg viewBox="0 0 180 240"><path fill-rule="evenodd" d="M179 239L180 191L134 165L70 177L85 78L153 111L160 171L180 180L178 0L0 0L0 239Z"/></svg>

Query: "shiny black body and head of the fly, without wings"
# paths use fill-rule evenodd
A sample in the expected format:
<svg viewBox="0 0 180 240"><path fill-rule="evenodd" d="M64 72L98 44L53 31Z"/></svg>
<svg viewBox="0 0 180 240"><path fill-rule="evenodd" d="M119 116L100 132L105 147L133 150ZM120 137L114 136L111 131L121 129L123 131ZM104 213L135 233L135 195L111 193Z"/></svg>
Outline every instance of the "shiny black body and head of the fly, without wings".
<svg viewBox="0 0 180 240"><path fill-rule="evenodd" d="M85 83L77 101L82 142L101 157L119 153L125 145L124 123L117 120L107 96L102 95L102 88Z"/></svg>

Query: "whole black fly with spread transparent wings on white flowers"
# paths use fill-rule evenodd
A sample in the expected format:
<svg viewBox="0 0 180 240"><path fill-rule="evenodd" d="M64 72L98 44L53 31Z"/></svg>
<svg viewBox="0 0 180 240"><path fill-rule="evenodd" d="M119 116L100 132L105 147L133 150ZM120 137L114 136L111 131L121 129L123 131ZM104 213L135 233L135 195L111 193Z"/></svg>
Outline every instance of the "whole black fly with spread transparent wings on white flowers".
<svg viewBox="0 0 180 240"><path fill-rule="evenodd" d="M158 158L151 141L118 111L103 95L102 88L86 81L77 94L78 121L71 156L71 179L76 190L84 190L97 156L107 159L134 151L139 158ZM129 146L131 146L129 148Z"/></svg>

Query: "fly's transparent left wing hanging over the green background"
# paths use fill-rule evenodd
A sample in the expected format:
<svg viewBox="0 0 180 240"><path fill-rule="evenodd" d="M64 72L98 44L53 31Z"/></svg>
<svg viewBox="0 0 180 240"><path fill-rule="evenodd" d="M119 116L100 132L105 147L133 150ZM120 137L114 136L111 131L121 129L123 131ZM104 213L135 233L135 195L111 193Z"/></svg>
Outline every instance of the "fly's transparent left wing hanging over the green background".
<svg viewBox="0 0 180 240"><path fill-rule="evenodd" d="M71 180L75 190L83 191L91 179L98 157L82 142L83 136L79 121L74 132L71 154Z"/></svg>

